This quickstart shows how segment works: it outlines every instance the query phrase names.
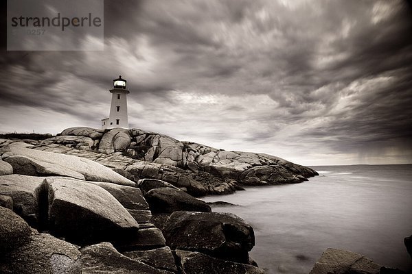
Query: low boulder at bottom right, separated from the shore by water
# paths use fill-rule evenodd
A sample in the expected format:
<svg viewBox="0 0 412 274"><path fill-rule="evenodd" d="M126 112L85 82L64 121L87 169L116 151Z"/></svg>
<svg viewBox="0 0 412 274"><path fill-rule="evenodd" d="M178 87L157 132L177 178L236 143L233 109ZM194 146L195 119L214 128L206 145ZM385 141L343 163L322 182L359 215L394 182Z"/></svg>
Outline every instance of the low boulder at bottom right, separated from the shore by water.
<svg viewBox="0 0 412 274"><path fill-rule="evenodd" d="M381 267L358 253L328 248L314 264L310 274L379 274Z"/></svg>

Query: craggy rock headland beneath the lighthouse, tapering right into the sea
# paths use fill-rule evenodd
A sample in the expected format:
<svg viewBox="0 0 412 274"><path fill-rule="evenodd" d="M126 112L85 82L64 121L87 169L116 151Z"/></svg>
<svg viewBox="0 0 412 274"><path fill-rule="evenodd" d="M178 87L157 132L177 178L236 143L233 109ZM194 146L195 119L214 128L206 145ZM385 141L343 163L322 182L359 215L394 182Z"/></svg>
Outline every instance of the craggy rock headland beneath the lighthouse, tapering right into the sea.
<svg viewBox="0 0 412 274"><path fill-rule="evenodd" d="M75 128L63 131L61 136L91 138L93 132L98 129ZM96 140L89 151L123 153L129 159L139 160L123 166L133 175L187 187L195 196L229 194L239 184L293 184L317 175L312 169L272 155L225 151L141 129L111 129Z"/></svg>

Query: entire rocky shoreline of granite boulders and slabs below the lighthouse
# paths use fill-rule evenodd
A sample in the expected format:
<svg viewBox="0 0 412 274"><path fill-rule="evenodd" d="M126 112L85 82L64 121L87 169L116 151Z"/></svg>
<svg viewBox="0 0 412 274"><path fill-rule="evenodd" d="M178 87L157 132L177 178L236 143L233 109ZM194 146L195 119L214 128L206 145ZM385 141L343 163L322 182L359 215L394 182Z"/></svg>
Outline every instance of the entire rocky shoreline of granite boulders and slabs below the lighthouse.
<svg viewBox="0 0 412 274"><path fill-rule="evenodd" d="M195 197L317 175L141 129L47 137L0 139L0 273L265 273L253 228ZM333 273L384 273L358 269Z"/></svg>

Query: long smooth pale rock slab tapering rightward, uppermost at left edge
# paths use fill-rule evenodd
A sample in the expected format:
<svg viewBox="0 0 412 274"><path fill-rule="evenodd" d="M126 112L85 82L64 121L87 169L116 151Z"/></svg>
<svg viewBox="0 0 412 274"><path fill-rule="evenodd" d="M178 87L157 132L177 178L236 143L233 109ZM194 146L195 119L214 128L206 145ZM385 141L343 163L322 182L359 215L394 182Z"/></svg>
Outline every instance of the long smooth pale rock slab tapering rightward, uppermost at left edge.
<svg viewBox="0 0 412 274"><path fill-rule="evenodd" d="M38 151L23 147L23 145L12 143L2 148L2 158L13 166L14 173L34 176L56 175L125 186L136 185L135 182L89 159Z"/></svg>

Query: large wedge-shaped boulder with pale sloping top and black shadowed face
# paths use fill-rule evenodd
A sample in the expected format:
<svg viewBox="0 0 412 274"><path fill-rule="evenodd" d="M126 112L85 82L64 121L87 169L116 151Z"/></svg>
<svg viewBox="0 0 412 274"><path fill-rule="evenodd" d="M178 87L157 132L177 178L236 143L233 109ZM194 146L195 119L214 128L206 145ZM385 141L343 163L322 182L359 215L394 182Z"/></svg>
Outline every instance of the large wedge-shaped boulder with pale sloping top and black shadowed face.
<svg viewBox="0 0 412 274"><path fill-rule="evenodd" d="M107 240L124 242L139 225L109 192L80 180L47 179L49 229L80 245Z"/></svg>

